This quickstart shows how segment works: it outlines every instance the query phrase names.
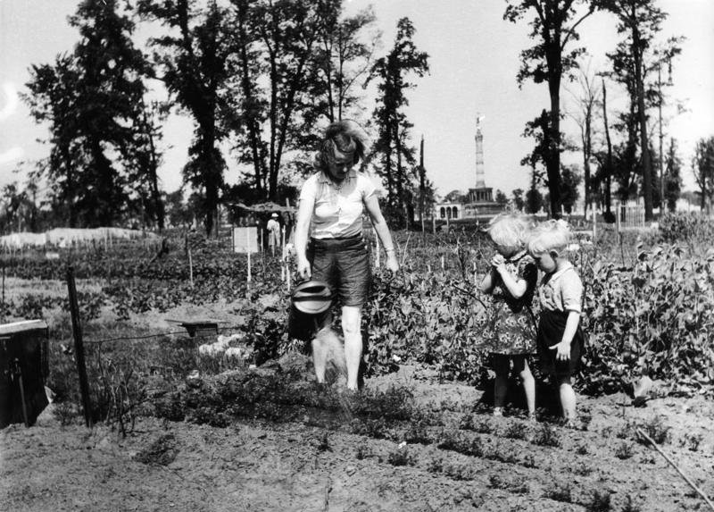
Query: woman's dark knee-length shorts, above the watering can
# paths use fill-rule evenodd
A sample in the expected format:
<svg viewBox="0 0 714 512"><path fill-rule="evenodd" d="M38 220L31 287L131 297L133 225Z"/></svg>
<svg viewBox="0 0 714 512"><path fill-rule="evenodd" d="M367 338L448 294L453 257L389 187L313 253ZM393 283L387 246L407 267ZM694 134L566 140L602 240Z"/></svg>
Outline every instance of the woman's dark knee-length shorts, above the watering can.
<svg viewBox="0 0 714 512"><path fill-rule="evenodd" d="M367 243L361 235L345 239L310 239L307 257L312 278L325 281L343 306L364 306L371 271Z"/></svg>

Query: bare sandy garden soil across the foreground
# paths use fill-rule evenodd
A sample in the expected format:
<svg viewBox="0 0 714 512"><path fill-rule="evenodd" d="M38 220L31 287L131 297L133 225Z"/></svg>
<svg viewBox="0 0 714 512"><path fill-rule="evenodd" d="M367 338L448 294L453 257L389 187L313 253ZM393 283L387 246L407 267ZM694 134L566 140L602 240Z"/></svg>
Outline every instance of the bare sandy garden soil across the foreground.
<svg viewBox="0 0 714 512"><path fill-rule="evenodd" d="M435 374L412 366L366 382L376 389L394 385L409 388L420 407L444 417L458 417L482 398L478 390L439 383ZM631 403L624 394L581 399L589 423L585 430L552 426L557 446L511 435L518 431L513 424L535 431L541 426L477 412L476 420L493 425L493 432L482 434L484 442L501 449L504 462L438 443L405 445L301 421L237 420L216 428L141 418L122 438L101 424L62 426L50 405L35 426L0 432L0 509L707 510L658 452L627 433L627 425L657 420L670 427L661 449L714 496L714 404L671 397L644 407ZM444 429L459 429L458 421L451 427L449 421Z"/></svg>

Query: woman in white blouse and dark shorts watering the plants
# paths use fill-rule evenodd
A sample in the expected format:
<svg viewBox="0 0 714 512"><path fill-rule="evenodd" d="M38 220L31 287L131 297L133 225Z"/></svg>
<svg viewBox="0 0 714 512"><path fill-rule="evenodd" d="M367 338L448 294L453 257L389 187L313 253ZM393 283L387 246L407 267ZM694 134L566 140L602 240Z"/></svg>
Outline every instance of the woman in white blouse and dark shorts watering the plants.
<svg viewBox="0 0 714 512"><path fill-rule="evenodd" d="M369 254L362 237L362 213L367 209L386 250L386 266L399 270L394 243L379 209L376 189L353 169L364 158L367 136L356 122L340 121L325 130L315 156L318 171L303 184L295 226L297 272L303 279L325 281L342 303L347 388L357 389L362 354L361 314L369 295ZM311 232L310 248L308 234ZM329 320L328 320L329 322ZM318 382L325 382L328 350L312 341Z"/></svg>

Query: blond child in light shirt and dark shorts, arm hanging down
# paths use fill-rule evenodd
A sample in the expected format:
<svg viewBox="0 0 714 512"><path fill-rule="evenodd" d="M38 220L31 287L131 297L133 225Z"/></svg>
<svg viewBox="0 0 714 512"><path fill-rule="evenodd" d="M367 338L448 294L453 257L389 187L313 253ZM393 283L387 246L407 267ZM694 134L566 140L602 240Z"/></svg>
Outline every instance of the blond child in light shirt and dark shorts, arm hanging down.
<svg viewBox="0 0 714 512"><path fill-rule="evenodd" d="M576 396L571 377L583 352L580 330L583 283L568 261L571 233L565 221L539 225L528 240L528 253L545 273L539 288L541 314L536 344L544 373L558 385L565 423L575 425Z"/></svg>

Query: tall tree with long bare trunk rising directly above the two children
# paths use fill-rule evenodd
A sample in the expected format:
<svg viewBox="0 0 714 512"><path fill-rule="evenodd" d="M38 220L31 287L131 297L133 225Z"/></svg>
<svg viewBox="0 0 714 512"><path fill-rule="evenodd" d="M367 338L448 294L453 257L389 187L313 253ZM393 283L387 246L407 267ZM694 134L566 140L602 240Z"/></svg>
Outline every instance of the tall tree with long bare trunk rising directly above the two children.
<svg viewBox="0 0 714 512"><path fill-rule="evenodd" d="M550 190L551 214L560 216L560 81L569 77L577 67L577 57L584 48L568 49L569 42L577 41L577 26L598 8L596 0L507 0L503 19L516 23L527 14L530 37L535 46L520 54L519 85L531 79L535 83L547 82L551 105L545 129L547 146L543 157ZM585 13L578 10L585 7Z"/></svg>

